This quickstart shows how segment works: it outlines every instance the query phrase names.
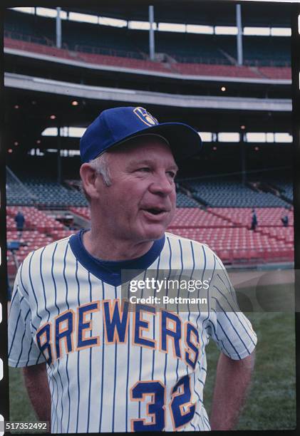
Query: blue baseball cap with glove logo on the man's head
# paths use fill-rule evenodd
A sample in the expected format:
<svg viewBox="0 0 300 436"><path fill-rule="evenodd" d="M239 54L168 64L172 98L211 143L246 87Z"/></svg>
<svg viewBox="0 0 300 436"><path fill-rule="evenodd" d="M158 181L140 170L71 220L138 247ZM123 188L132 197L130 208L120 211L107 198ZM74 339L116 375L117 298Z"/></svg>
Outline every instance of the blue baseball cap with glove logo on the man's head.
<svg viewBox="0 0 300 436"><path fill-rule="evenodd" d="M142 135L160 135L169 143L175 160L200 151L197 130L183 123L159 123L144 108L122 107L103 110L81 137L81 162L90 162L111 147Z"/></svg>

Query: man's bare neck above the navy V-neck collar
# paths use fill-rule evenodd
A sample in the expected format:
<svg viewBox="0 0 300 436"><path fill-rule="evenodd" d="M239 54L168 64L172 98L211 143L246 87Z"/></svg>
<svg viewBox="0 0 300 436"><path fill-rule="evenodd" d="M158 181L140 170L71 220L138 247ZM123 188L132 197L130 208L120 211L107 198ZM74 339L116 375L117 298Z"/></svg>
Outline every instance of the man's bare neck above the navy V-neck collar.
<svg viewBox="0 0 300 436"><path fill-rule="evenodd" d="M107 235L93 232L93 229L83 233L83 246L96 259L104 261L123 261L137 259L146 254L152 241L134 243L127 240L108 239Z"/></svg>

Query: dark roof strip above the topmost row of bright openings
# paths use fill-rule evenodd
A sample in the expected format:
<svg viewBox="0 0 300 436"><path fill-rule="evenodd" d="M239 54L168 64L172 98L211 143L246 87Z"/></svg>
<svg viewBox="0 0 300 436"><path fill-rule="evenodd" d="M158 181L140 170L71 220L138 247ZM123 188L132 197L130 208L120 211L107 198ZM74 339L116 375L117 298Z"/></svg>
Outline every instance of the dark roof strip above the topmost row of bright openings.
<svg viewBox="0 0 300 436"><path fill-rule="evenodd" d="M165 23L204 24L210 26L232 26L235 24L235 4L233 1L161 1L151 2L154 6L155 21ZM101 1L100 6L62 8L81 14L96 14L110 18L148 21L148 5L140 1L127 1L126 6ZM216 13L217 11L217 13ZM289 4L242 2L242 21L244 26L291 25Z"/></svg>

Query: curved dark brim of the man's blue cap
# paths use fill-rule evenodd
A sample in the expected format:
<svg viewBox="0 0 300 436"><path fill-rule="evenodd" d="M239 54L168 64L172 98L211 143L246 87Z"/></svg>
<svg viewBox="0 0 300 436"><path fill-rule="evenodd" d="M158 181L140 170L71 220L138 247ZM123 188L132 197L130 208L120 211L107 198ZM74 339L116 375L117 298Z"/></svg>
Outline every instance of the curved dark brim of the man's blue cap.
<svg viewBox="0 0 300 436"><path fill-rule="evenodd" d="M161 123L153 125L115 142L109 148L120 145L133 137L147 134L160 135L169 142L175 160L180 161L197 155L202 148L202 140L197 131L184 123ZM103 152L106 150L103 150Z"/></svg>

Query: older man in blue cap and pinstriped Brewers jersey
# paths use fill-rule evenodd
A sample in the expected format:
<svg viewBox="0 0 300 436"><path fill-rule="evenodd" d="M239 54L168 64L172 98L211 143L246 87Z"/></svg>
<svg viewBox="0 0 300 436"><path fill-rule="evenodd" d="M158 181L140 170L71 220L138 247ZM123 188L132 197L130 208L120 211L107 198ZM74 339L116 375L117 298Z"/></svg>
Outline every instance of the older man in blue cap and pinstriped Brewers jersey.
<svg viewBox="0 0 300 436"><path fill-rule="evenodd" d="M90 229L29 254L9 321L9 363L25 367L31 401L52 432L227 430L237 421L255 333L242 313L217 306L214 295L228 291L231 307L235 297L212 250L165 233L177 161L200 145L190 126L158 123L144 108L105 110L81 138ZM130 311L121 305L121 271L133 269L200 274L210 279L212 306ZM209 422L202 394L210 338L222 353Z"/></svg>

